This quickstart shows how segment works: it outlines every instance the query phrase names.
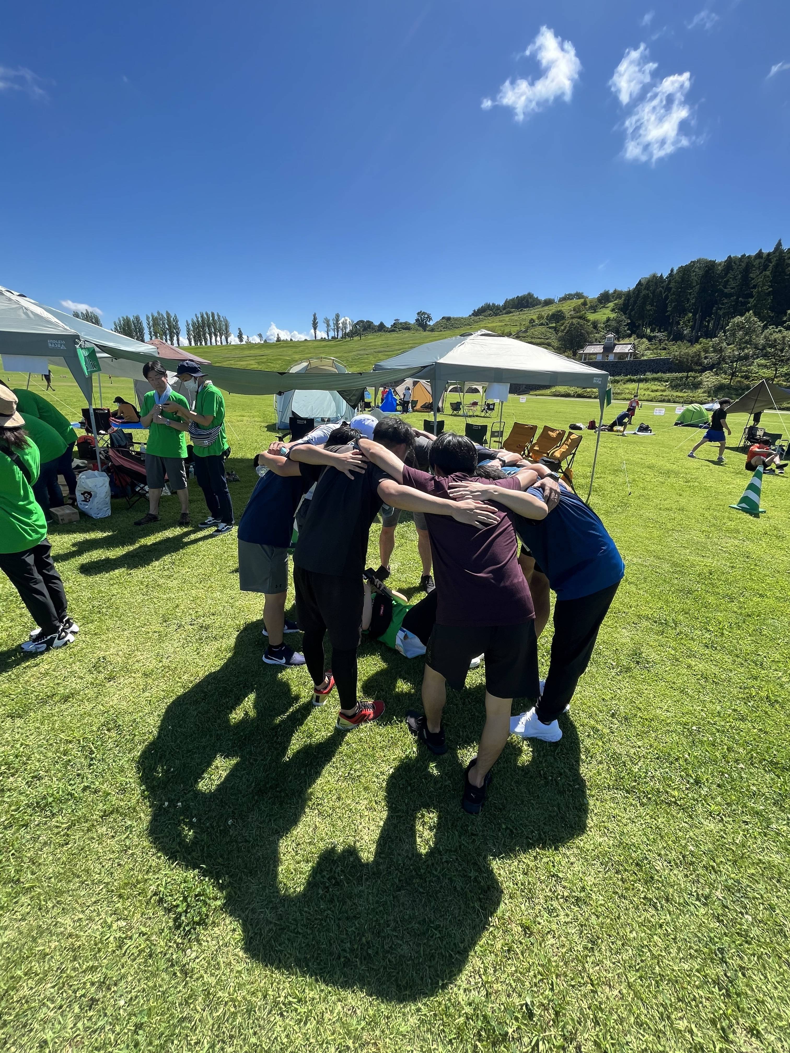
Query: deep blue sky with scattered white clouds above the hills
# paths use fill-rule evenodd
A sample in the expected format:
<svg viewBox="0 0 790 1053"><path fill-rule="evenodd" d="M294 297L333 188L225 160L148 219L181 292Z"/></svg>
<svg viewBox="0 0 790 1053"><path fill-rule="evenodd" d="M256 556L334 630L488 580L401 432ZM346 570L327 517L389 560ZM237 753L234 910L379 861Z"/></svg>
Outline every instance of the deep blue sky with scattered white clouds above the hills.
<svg viewBox="0 0 790 1053"><path fill-rule="evenodd" d="M790 5L32 0L0 284L305 333L790 242Z"/></svg>

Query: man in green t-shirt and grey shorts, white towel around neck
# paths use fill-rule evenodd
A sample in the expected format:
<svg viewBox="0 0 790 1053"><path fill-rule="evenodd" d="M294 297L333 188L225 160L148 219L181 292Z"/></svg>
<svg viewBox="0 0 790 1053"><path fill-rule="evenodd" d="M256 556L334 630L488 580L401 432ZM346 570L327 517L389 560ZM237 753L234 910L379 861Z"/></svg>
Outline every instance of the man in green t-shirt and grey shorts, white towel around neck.
<svg viewBox="0 0 790 1053"><path fill-rule="evenodd" d="M147 526L159 521L159 498L162 496L165 474L171 490L178 494L181 503L180 526L190 525L190 491L186 486L186 436L189 424L183 424L171 406L189 410L190 403L173 391L167 383L167 371L157 361L146 362L142 375L154 389L145 392L140 406L140 423L149 430L145 443L145 478L149 483L149 511L135 526Z"/></svg>

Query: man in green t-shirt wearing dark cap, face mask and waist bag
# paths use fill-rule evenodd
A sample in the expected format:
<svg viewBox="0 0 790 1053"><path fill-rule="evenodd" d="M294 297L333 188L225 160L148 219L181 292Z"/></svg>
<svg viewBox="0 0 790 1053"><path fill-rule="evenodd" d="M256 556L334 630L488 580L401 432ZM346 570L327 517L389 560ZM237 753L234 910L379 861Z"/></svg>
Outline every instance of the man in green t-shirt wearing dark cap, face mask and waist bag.
<svg viewBox="0 0 790 1053"><path fill-rule="evenodd" d="M233 530L233 503L225 477L225 400L197 362L191 359L179 362L176 375L190 395L194 393L195 409L187 406L184 410L174 400L167 402L164 409L177 413L186 422L192 437L195 478L209 508L209 517L198 525L214 526L213 537L228 534Z"/></svg>

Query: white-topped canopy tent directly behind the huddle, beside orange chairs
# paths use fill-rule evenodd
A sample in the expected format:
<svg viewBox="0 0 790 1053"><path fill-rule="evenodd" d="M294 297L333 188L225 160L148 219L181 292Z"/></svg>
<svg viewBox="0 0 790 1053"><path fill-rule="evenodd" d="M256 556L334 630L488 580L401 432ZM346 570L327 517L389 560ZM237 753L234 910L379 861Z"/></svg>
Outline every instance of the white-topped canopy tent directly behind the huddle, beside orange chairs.
<svg viewBox="0 0 790 1053"><path fill-rule="evenodd" d="M450 383L479 383L483 380L486 383L534 384L539 388L593 388L598 393L601 423L609 390L609 374L603 370L488 330L422 343L394 358L377 362L373 369L409 369L412 371L410 376L415 379L430 380L434 393L434 425L438 393ZM595 477L599 441L600 431L595 441L588 500Z"/></svg>

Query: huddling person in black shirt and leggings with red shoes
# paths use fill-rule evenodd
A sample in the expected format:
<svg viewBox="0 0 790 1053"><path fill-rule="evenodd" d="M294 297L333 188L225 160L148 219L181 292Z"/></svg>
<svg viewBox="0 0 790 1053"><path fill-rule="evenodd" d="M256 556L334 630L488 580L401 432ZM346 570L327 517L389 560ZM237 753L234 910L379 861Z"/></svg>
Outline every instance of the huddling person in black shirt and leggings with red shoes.
<svg viewBox="0 0 790 1053"><path fill-rule="evenodd" d="M349 439L354 433L347 433ZM363 441L363 440L357 440ZM368 448L388 448L406 456L412 429L400 417L388 417L376 424ZM302 647L313 677L314 704L321 704L337 687L340 711L337 728L352 728L376 720L384 711L380 700L357 699L357 648L359 645L364 588L362 572L368 553L371 523L382 503L411 512L433 512L465 523L489 523L494 514L477 502L454 502L417 494L387 478L386 473L363 460L352 441L343 445L295 446L289 458L314 478L320 466L332 463L328 456L342 457L348 475L323 472L311 501L310 512L299 531L294 553L296 610L304 636ZM311 472L311 466L312 472ZM297 468L293 464L291 471ZM323 639L332 642L332 670L324 673Z"/></svg>

